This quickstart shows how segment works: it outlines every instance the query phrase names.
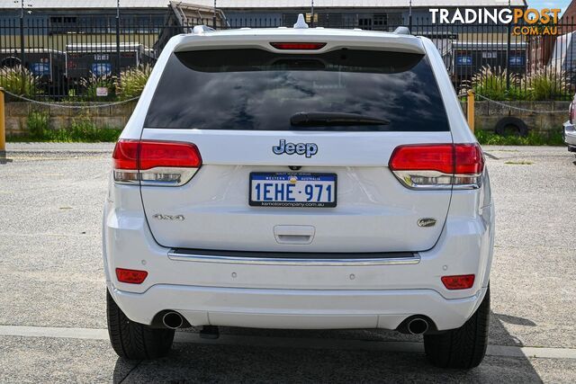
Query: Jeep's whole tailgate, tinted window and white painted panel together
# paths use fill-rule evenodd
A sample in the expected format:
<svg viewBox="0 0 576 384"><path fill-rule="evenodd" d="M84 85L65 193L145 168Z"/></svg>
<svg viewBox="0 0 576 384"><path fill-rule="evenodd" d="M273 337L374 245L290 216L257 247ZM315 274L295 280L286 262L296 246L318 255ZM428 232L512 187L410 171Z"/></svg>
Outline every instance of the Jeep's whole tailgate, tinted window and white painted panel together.
<svg viewBox="0 0 576 384"><path fill-rule="evenodd" d="M389 122L291 126L294 113L318 111ZM437 242L450 203L450 189L412 190L387 166L398 146L452 143L424 55L357 49L293 56L270 49L176 53L141 138L193 143L202 155L189 183L141 187L149 227L162 246L421 251ZM282 140L316 149L275 152ZM251 206L251 173L336 174L336 206ZM170 217L180 219L162 219ZM436 225L420 227L419 219Z"/></svg>

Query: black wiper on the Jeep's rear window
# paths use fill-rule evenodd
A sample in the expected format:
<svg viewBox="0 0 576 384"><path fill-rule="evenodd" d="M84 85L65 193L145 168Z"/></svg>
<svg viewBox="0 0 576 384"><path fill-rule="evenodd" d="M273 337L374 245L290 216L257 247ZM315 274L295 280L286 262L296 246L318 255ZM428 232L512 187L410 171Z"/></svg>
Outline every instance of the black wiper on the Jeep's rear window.
<svg viewBox="0 0 576 384"><path fill-rule="evenodd" d="M290 118L294 127L323 127L350 125L388 125L390 121L343 112L298 112Z"/></svg>

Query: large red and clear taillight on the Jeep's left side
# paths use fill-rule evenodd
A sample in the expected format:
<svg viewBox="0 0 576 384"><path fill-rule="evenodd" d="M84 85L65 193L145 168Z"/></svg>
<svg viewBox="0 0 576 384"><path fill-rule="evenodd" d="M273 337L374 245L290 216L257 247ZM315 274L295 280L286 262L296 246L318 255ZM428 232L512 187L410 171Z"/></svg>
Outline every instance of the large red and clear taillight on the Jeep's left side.
<svg viewBox="0 0 576 384"><path fill-rule="evenodd" d="M198 147L175 141L121 139L112 158L114 181L125 184L183 185L202 165Z"/></svg>

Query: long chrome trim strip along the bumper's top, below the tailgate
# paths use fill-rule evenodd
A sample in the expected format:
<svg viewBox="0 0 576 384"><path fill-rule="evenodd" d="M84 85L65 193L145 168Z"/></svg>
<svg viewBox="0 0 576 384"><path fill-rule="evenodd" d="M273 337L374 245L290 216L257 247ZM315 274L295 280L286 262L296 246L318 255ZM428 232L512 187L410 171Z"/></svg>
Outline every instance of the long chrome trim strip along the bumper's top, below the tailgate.
<svg viewBox="0 0 576 384"><path fill-rule="evenodd" d="M288 259L266 257L237 257L213 255L185 255L168 252L170 260L195 263L227 263L256 265L307 265L307 266L360 266L360 265L408 265L420 263L420 255L413 257L387 257L379 259Z"/></svg>

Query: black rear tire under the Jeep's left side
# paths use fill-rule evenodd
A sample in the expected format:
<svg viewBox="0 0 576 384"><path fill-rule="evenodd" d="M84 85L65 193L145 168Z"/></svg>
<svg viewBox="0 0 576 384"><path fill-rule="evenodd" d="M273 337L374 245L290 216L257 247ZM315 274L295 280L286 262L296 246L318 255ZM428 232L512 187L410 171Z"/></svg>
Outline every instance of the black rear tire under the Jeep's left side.
<svg viewBox="0 0 576 384"><path fill-rule="evenodd" d="M106 290L108 335L114 352L129 360L164 357L174 341L174 329L152 328L135 323L124 315Z"/></svg>

